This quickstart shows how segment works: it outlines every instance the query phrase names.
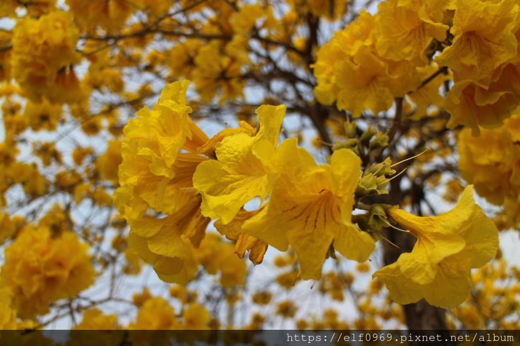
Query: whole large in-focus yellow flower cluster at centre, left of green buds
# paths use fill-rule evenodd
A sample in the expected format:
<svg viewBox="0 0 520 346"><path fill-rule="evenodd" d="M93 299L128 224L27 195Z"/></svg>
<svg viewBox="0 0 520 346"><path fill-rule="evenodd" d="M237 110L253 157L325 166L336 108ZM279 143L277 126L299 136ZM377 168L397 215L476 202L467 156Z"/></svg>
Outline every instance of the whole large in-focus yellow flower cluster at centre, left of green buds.
<svg viewBox="0 0 520 346"><path fill-rule="evenodd" d="M114 195L131 226L130 247L163 280L189 280L197 262L215 272L200 258L210 218L238 240L239 255L251 250L255 263L267 244L283 251L290 244L304 279L320 277L332 244L348 258L368 258L375 242L350 220L361 173L352 151L336 150L330 164L317 165L294 139L278 147L284 106L259 107L258 131L242 122L210 140L188 116L187 87L187 81L167 86L153 109L140 110L125 127ZM261 209L243 209L267 195Z"/></svg>

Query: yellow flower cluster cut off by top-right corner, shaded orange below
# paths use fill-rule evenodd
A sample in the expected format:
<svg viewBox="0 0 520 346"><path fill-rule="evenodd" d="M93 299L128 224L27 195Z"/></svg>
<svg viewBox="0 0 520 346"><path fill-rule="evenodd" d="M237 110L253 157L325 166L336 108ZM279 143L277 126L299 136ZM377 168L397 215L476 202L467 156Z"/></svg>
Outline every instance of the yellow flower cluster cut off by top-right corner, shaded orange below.
<svg viewBox="0 0 520 346"><path fill-rule="evenodd" d="M520 5L514 0L453 1L451 45L436 58L453 71L448 127L493 128L520 105Z"/></svg>

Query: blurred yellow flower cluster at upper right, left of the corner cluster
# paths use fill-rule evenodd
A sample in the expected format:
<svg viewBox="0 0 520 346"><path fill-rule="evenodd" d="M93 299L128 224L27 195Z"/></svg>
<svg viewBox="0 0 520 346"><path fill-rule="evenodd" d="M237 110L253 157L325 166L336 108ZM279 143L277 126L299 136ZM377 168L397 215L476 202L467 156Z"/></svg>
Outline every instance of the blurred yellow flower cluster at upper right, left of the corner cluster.
<svg viewBox="0 0 520 346"><path fill-rule="evenodd" d="M336 32L318 51L317 100L337 101L338 109L357 117L366 109L374 114L387 110L394 98L417 90L424 68L431 66L432 40L446 37L441 3L388 0L375 16L360 12L355 22ZM423 90L414 101L424 109L437 97L438 88Z"/></svg>

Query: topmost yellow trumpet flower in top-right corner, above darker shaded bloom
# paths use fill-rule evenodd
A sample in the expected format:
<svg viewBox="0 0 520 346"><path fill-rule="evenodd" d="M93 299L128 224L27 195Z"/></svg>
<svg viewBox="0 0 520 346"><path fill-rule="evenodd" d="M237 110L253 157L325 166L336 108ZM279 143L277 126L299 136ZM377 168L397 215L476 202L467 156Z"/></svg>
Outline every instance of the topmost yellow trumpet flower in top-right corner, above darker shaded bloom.
<svg viewBox="0 0 520 346"><path fill-rule="evenodd" d="M454 7L453 43L435 61L487 85L493 70L517 56L520 6L516 0L456 0Z"/></svg>

